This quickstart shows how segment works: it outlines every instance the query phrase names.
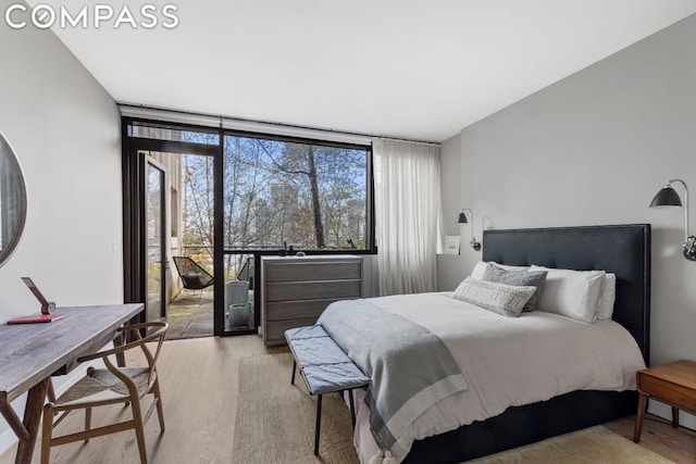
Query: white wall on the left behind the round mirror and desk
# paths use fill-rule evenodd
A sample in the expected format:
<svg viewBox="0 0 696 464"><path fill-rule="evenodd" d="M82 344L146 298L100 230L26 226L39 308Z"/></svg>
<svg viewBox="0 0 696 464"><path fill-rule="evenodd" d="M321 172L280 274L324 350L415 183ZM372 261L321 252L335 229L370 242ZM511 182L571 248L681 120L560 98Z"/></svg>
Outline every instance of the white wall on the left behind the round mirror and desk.
<svg viewBox="0 0 696 464"><path fill-rule="evenodd" d="M0 0L0 10L9 4ZM0 63L0 131L24 167L28 191L24 235L0 267L0 324L39 311L21 276L32 276L59 306L123 302L114 101L51 32L2 22ZM23 414L24 399L13 405ZM13 441L0 419L0 452Z"/></svg>

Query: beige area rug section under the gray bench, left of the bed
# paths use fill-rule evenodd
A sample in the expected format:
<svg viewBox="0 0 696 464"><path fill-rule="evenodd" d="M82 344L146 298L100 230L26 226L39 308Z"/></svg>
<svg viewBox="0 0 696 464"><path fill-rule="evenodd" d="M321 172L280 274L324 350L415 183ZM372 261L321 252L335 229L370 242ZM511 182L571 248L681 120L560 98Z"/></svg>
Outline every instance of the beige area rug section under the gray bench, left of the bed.
<svg viewBox="0 0 696 464"><path fill-rule="evenodd" d="M350 412L338 394L322 401L320 456L314 456L316 398L299 372L290 385L290 353L239 360L239 397L233 444L235 464L357 463Z"/></svg>

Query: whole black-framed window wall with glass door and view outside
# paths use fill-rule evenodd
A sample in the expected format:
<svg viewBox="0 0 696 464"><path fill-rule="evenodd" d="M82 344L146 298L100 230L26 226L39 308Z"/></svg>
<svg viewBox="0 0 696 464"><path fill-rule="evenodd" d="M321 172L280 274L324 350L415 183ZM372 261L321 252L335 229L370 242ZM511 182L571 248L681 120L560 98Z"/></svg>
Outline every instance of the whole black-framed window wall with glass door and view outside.
<svg viewBox="0 0 696 464"><path fill-rule="evenodd" d="M126 301L144 301L147 291L140 269L150 230L139 153L154 151L170 179L162 313L173 321L182 301L198 302L185 322L194 336L204 335L196 328L206 317L215 335L257 331L263 254L375 251L370 146L135 118L124 118L124 134ZM173 256L201 268L198 287L204 274L214 285L189 289Z"/></svg>

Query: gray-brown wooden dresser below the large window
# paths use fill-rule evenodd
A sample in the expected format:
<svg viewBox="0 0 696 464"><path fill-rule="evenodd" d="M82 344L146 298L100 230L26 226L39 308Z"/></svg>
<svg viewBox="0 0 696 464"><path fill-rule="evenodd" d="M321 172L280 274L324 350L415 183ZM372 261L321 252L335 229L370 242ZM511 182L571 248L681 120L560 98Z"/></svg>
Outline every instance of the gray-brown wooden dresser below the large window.
<svg viewBox="0 0 696 464"><path fill-rule="evenodd" d="M286 344L288 328L313 325L330 303L362 294L361 256L262 256L263 343Z"/></svg>

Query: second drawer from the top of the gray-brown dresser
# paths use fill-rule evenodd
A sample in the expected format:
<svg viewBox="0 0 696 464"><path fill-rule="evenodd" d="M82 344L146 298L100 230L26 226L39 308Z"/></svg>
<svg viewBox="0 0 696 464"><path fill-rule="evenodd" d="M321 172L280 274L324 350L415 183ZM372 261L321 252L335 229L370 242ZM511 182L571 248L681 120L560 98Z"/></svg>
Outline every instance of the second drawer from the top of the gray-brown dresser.
<svg viewBox="0 0 696 464"><path fill-rule="evenodd" d="M265 301L326 300L360 297L360 280L268 283Z"/></svg>

